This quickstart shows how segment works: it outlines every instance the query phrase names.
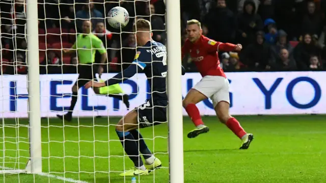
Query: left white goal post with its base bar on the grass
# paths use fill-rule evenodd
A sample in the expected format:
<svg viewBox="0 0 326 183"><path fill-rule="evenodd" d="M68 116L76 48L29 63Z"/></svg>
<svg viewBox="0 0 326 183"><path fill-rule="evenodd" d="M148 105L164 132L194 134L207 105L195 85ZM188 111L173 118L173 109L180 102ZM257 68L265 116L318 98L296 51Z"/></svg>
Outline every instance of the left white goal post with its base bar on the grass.
<svg viewBox="0 0 326 183"><path fill-rule="evenodd" d="M39 58L37 9L37 0L29 0L26 4L27 64L30 70L28 72L30 160L24 170L0 170L0 174L42 172L40 71L39 60L35 59Z"/></svg>

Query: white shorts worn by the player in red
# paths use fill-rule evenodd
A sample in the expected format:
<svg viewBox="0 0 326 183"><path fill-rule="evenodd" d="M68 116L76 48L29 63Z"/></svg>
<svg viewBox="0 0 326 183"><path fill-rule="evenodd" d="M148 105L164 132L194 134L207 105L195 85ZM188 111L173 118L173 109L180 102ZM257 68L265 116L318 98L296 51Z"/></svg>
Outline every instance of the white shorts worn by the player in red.
<svg viewBox="0 0 326 183"><path fill-rule="evenodd" d="M213 107L220 101L230 103L229 80L222 76L206 75L193 89L201 92L213 101Z"/></svg>

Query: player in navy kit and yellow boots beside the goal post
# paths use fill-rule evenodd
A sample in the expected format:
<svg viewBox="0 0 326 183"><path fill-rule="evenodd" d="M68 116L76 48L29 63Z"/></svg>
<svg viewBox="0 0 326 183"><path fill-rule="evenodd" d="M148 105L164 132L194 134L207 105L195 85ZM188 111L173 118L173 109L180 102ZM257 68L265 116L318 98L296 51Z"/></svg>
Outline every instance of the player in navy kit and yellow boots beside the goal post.
<svg viewBox="0 0 326 183"><path fill-rule="evenodd" d="M136 29L137 27L137 29ZM167 52L166 47L151 39L150 22L139 19L133 25L136 32L137 54L127 69L118 73L105 83L88 82L86 88L98 88L120 83L138 71L143 71L151 88L151 98L124 116L116 126L117 135L134 167L121 173L121 176L148 175L149 171L161 166L161 162L148 149L138 128L144 128L167 121L168 96L166 93ZM181 105L181 104L180 104ZM140 152L145 164L143 163Z"/></svg>

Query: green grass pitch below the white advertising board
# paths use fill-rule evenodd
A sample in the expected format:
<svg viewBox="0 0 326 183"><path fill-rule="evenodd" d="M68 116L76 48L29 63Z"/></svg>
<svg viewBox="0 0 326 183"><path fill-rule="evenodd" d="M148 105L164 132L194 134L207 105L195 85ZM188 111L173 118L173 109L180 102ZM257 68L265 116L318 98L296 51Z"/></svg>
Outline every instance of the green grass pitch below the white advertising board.
<svg viewBox="0 0 326 183"><path fill-rule="evenodd" d="M326 182L326 116L238 116L247 132L255 135L248 150L238 150L240 141L230 130L214 117L204 117L210 127L208 134L195 139L187 139L186 134L194 126L184 118L184 179L190 182ZM118 118L110 118L116 124ZM6 127L0 126L0 166L13 168L25 163L29 156L27 130L10 126L13 120L5 119ZM19 121L26 125L26 120ZM93 125L98 125L93 127ZM122 158L123 149L114 130L107 126L106 118L81 118L78 123L62 123L57 119L42 120L43 172L65 176L87 182L124 182L118 171L132 167L131 161ZM102 126L100 126L102 125ZM19 130L18 130L19 129ZM5 135L4 135L5 133ZM16 137L19 139L8 138ZM151 150L168 167L167 125L157 125L141 129ZM7 137L4 143L3 137ZM10 151L17 149L19 151ZM95 140L95 143L94 143ZM107 141L110 140L110 143ZM77 143L79 141L79 143ZM65 142L65 143L63 143ZM3 147L6 147L5 151ZM3 158L16 156L20 158ZM94 158L96 156L96 158ZM110 156L110 161L107 158ZM65 157L64 159L62 157ZM3 164L3 162L6 162ZM19 164L24 168L24 164ZM96 171L96 173L94 173ZM109 173L101 173L108 172ZM64 172L66 172L64 174ZM73 173L74 172L74 173ZM78 173L79 172L79 173ZM36 175L0 175L0 182L64 182L56 178ZM109 181L110 180L110 181ZM169 170L159 169L151 175L137 177L141 183L169 182ZM127 178L126 182L131 182Z"/></svg>

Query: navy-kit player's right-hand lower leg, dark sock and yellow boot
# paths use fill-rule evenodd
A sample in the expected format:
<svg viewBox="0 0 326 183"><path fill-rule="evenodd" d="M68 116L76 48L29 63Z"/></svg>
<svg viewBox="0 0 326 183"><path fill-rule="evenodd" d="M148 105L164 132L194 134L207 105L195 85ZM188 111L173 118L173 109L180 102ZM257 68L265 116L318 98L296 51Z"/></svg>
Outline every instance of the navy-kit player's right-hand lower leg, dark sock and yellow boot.
<svg viewBox="0 0 326 183"><path fill-rule="evenodd" d="M138 132L137 129L130 130L130 134L133 136L134 140L138 143L139 151L143 154L145 159L145 167L150 172L162 166L161 161L152 154L148 149L143 136Z"/></svg>

